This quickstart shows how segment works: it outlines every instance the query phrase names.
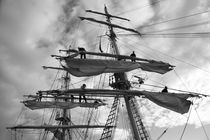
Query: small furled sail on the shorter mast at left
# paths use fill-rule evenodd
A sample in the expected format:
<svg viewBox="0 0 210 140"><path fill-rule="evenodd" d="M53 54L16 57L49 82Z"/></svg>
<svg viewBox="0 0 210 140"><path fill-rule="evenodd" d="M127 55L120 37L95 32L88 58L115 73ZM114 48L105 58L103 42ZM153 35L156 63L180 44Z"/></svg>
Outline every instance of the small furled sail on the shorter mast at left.
<svg viewBox="0 0 210 140"><path fill-rule="evenodd" d="M61 102L61 101L36 101L36 100L27 100L23 101L24 105L32 110L35 109L44 109L44 108L60 108L60 109L72 109L75 107L88 107L88 108L97 108L102 105L106 105L102 102L93 102L93 103L78 103L78 102Z"/></svg>

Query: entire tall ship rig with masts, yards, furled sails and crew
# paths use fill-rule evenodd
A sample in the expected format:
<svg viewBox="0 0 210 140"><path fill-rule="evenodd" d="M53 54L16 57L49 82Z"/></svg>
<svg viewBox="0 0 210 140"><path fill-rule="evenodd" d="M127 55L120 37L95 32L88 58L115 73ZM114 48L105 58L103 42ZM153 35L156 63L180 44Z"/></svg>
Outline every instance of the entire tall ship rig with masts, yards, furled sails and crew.
<svg viewBox="0 0 210 140"><path fill-rule="evenodd" d="M49 123L41 125L16 125L8 127L14 131L12 139L23 139L18 136L22 135L25 130L38 130L40 135L37 139L52 140L112 140L117 139L116 131L119 127L120 103L124 103L127 115L127 132L128 137L125 139L133 140L151 140L150 134L144 124L142 115L139 110L137 98L148 99L155 104L175 111L180 114L187 113L192 105L193 98L201 98L205 95L193 92L169 92L165 87L160 92L152 92L147 90L133 90L132 87L137 85L141 87L145 79L134 75L136 82L129 80L127 72L141 69L147 72L165 74L174 69L175 66L156 60L144 59L136 57L133 52L131 55L121 55L120 48L117 46L117 35L115 29L131 32L141 37L142 34L132 28L124 27L112 23L112 19L120 21L129 21L124 17L115 16L109 13L107 7L104 12L86 10L87 13L100 15L105 17L106 21L97 20L89 17L79 17L82 21L93 22L105 25L108 28L108 37L110 42L110 52L100 53L85 50L84 48L60 50L65 55L52 55L60 62L60 67L44 66L44 69L54 69L63 71L61 77L62 86L57 89L37 91L35 95L25 95L26 100L22 103L29 109L45 110L51 109L52 115L49 117ZM101 42L100 42L101 45ZM101 46L100 46L101 47ZM101 48L100 48L101 49ZM94 56L90 58L89 56ZM100 58L96 58L100 57ZM82 83L81 87L70 88L72 76L75 77L92 77L102 74L109 74L108 88L89 88L87 83ZM110 101L113 101L110 104ZM94 111L102 107L111 105L105 123L92 123L94 119ZM85 124L74 122L73 116L75 112L88 110L88 115L78 116L87 119ZM52 123L54 120L54 123ZM50 124L52 123L52 124ZM41 130L41 131L40 131ZM90 132L100 132L100 134L91 134ZM18 134L17 134L18 133ZM161 136L160 136L161 137ZM159 138L160 138L159 137ZM159 139L158 138L158 139ZM123 139L123 138L122 138Z"/></svg>

